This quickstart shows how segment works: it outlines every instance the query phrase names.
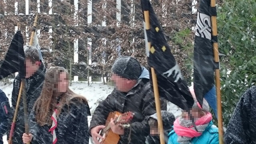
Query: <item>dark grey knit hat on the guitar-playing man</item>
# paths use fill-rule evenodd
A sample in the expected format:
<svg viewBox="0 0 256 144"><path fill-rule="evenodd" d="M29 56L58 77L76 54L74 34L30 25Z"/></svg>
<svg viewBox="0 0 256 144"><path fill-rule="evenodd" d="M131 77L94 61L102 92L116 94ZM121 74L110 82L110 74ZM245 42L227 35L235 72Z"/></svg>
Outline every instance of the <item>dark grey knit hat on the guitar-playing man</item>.
<svg viewBox="0 0 256 144"><path fill-rule="evenodd" d="M112 66L113 73L127 79L139 79L141 75L140 63L133 57L121 56Z"/></svg>

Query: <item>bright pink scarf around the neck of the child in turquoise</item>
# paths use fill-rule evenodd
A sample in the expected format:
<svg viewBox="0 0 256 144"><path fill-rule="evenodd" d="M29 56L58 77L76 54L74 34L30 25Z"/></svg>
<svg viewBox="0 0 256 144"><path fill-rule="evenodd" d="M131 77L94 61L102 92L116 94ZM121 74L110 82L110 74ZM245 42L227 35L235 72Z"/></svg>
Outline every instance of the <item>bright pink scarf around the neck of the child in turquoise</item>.
<svg viewBox="0 0 256 144"><path fill-rule="evenodd" d="M203 131L208 126L209 122L212 121L212 114L208 112L208 113L206 113L205 116L201 117L199 120L197 120L195 122L196 126L207 125L203 130L200 130L200 129L197 128L198 132L194 129L193 126L190 126L188 128L184 127L184 126L181 126L180 122L179 122L179 119L180 118L176 119L174 124L173 124L173 130L175 131L175 133L178 136L193 138L193 137L199 137L199 136L202 135Z"/></svg>

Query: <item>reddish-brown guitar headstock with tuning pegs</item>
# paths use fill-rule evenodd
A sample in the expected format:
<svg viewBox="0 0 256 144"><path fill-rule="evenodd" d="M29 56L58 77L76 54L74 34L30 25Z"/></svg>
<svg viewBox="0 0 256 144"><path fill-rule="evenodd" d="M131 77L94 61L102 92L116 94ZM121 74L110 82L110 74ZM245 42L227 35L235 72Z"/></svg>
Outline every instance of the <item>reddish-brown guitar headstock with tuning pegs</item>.
<svg viewBox="0 0 256 144"><path fill-rule="evenodd" d="M118 116L116 120L116 124L121 125L122 127L130 127L130 122L133 119L134 113L132 112L126 112Z"/></svg>

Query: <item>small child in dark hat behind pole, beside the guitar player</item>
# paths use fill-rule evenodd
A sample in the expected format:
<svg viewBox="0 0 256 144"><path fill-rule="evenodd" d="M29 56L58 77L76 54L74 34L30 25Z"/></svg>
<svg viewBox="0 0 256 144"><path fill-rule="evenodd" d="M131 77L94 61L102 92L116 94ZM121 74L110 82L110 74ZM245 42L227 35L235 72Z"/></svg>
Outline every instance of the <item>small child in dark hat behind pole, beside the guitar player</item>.
<svg viewBox="0 0 256 144"><path fill-rule="evenodd" d="M175 116L166 111L161 110L162 122L164 128L164 141L168 143L168 134L173 129L173 122L175 120ZM157 122L157 113L151 115L148 120L150 127L150 135L146 138L146 144L160 144L160 137L158 132L158 122Z"/></svg>

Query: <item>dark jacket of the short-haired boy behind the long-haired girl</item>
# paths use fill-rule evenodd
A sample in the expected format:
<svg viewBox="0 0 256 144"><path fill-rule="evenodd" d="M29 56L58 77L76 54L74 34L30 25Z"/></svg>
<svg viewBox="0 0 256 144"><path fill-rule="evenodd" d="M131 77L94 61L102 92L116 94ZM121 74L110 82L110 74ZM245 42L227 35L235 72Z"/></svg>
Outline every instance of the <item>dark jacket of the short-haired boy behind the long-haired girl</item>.
<svg viewBox="0 0 256 144"><path fill-rule="evenodd" d="M28 113L31 112L36 99L41 94L41 91L43 88L44 76L45 76L45 69L44 69L44 65L41 64L38 71L32 77L25 79ZM17 75L13 82L13 91L12 91L12 100L11 100L13 111L15 111L15 108L16 108L17 99L18 99L18 95L19 95L19 91L20 91L20 84L21 84L21 78L20 78L20 75ZM13 120L13 116L11 117L10 122L9 122L7 139L9 139L12 120ZM24 110L23 110L23 101L21 98L19 109L18 109L18 114L17 114L17 118L16 118L16 124L15 124L15 128L14 128L14 134L12 137L12 143L13 144L22 143L22 135L24 132L25 132Z"/></svg>

